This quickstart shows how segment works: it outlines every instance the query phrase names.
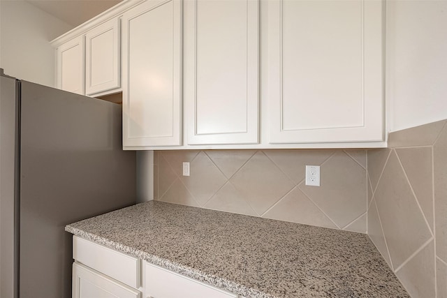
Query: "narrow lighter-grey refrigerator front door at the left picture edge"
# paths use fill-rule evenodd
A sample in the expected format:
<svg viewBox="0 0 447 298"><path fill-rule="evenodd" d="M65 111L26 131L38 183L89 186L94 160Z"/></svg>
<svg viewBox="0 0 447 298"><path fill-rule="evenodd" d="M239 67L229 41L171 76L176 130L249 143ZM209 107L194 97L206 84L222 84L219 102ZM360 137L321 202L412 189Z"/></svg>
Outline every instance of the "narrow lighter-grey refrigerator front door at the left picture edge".
<svg viewBox="0 0 447 298"><path fill-rule="evenodd" d="M0 75L0 297L14 297L15 91Z"/></svg>

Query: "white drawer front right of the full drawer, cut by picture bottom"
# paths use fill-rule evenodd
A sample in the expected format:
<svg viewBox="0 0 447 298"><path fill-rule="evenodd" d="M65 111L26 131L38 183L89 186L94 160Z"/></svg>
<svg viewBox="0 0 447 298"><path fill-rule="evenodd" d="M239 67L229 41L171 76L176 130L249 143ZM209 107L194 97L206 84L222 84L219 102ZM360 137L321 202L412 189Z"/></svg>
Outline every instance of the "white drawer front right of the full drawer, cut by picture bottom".
<svg viewBox="0 0 447 298"><path fill-rule="evenodd" d="M236 298L237 295L205 285L186 276L145 265L145 296L154 298Z"/></svg>

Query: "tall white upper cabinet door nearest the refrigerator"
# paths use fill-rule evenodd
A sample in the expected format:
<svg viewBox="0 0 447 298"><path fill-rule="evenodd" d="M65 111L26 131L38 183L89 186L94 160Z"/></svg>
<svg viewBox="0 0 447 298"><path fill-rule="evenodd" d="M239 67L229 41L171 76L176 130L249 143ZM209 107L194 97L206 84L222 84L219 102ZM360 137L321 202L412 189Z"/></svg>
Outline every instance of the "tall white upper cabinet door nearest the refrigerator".
<svg viewBox="0 0 447 298"><path fill-rule="evenodd" d="M181 144L182 1L145 1L122 30L124 147Z"/></svg>

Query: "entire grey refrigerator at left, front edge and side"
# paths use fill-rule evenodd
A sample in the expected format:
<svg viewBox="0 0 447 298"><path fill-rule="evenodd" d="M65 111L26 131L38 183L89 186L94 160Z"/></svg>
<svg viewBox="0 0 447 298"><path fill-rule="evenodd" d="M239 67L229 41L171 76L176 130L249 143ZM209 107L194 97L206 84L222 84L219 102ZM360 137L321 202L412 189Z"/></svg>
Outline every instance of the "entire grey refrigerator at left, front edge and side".
<svg viewBox="0 0 447 298"><path fill-rule="evenodd" d="M135 204L135 151L120 105L1 73L0 297L68 298L64 226Z"/></svg>

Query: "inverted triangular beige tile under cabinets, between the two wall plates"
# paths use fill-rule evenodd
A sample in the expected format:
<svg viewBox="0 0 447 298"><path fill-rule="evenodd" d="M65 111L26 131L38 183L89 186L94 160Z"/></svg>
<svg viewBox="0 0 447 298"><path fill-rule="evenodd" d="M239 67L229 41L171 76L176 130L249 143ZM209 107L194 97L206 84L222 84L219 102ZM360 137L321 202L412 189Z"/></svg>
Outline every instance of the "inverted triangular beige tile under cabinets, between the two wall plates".
<svg viewBox="0 0 447 298"><path fill-rule="evenodd" d="M207 150L205 153L219 169L230 179L237 170L247 163L256 150Z"/></svg>

